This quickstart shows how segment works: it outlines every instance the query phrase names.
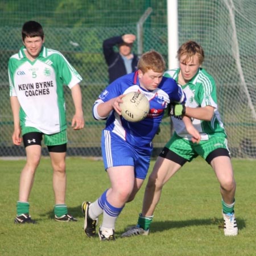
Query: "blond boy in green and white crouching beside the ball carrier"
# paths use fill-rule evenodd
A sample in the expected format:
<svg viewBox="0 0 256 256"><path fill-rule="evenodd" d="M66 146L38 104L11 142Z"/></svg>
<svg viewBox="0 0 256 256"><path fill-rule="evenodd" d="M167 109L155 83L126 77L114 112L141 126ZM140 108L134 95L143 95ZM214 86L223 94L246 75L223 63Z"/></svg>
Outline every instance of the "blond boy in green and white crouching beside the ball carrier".
<svg viewBox="0 0 256 256"><path fill-rule="evenodd" d="M225 236L236 236L238 228L234 216L236 182L227 146L226 133L217 106L216 85L213 77L201 68L203 48L193 41L184 43L177 51L180 68L168 71L164 76L174 78L186 94L185 115L201 135L200 143L191 142L184 122L172 116L175 133L160 152L144 192L142 213L137 226L131 227L122 237L149 234L156 205L163 185L186 162L198 155L212 166L220 183L222 214Z"/></svg>

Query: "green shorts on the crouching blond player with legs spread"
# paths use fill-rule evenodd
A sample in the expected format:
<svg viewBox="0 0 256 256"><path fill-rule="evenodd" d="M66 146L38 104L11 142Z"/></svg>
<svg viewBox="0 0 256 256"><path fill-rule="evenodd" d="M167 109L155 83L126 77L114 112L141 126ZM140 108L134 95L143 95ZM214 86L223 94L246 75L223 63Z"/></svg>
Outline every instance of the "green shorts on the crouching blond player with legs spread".
<svg viewBox="0 0 256 256"><path fill-rule="evenodd" d="M225 148L229 151L228 140L226 137L221 135L219 137L210 137L207 141L200 141L199 144L197 144L179 137L175 133L170 141L166 143L165 147L175 152L182 158L187 159L188 162L191 162L199 155L206 159L210 152L216 150L217 148Z"/></svg>

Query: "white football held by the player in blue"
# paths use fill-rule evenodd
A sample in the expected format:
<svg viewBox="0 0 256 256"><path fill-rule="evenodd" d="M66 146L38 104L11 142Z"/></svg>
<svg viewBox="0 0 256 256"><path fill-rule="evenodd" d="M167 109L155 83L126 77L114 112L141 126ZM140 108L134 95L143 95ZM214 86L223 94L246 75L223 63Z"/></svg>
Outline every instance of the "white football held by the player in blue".
<svg viewBox="0 0 256 256"><path fill-rule="evenodd" d="M129 92L125 94L122 101L123 103L119 104L121 114L129 122L143 120L150 110L150 104L143 93Z"/></svg>

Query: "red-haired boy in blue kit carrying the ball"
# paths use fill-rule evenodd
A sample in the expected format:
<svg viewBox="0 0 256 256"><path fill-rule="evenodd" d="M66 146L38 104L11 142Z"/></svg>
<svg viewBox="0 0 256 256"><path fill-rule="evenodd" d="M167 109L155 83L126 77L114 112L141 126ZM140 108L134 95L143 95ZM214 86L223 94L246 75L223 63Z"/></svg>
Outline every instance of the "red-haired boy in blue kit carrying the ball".
<svg viewBox="0 0 256 256"><path fill-rule="evenodd" d="M98 232L100 240L115 240L115 221L125 204L134 199L147 175L152 139L159 129L164 110L170 102L184 104L181 87L174 79L163 77L165 67L158 52L144 53L138 62L138 70L112 82L94 103L94 118L106 119L101 150L111 187L94 203L85 201L82 204L84 231L88 237L96 235L97 219L103 213ZM143 93L150 102L150 112L140 122L129 122L121 116L119 104L129 92ZM199 133L190 119L184 118L187 130L198 142Z"/></svg>

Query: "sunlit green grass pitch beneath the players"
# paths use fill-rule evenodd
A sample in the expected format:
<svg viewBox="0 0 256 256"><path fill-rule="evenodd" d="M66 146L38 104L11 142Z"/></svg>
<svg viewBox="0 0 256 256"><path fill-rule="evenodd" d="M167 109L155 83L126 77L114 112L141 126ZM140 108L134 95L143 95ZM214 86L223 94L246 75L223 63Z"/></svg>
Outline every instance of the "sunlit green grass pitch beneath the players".
<svg viewBox="0 0 256 256"><path fill-rule="evenodd" d="M53 220L52 171L41 160L30 197L30 214L38 224L15 225L19 174L25 160L0 160L0 255L255 255L256 160L233 160L237 181L237 237L225 237L221 196L216 177L202 159L193 160L164 186L156 207L150 236L120 238L137 222L143 184L135 200L123 209L115 242L85 236L81 203L94 201L109 186L101 160L67 159L67 205L78 222ZM152 160L152 164L154 161ZM150 171L151 171L150 168ZM101 221L101 218L100 218Z"/></svg>

